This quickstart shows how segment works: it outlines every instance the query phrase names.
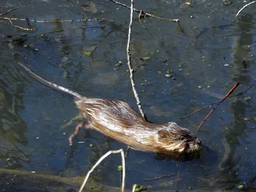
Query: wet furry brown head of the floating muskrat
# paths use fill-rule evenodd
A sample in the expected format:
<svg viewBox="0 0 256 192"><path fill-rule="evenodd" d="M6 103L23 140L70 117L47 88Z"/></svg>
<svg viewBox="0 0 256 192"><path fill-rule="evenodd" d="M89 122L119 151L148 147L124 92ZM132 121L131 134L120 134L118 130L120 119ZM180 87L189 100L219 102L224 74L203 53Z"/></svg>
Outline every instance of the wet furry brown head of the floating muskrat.
<svg viewBox="0 0 256 192"><path fill-rule="evenodd" d="M169 122L157 132L157 143L165 152L189 153L199 150L201 140L188 129Z"/></svg>

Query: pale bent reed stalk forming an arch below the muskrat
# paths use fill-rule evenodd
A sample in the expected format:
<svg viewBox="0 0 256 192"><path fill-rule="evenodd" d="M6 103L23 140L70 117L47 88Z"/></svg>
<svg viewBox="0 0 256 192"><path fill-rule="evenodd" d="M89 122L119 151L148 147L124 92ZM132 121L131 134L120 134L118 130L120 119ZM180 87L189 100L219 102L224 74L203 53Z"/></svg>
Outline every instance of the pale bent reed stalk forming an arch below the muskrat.
<svg viewBox="0 0 256 192"><path fill-rule="evenodd" d="M86 177L84 178L84 182L81 185L81 188L79 189L79 192L81 192L83 190L84 185L86 184L86 181L88 180L88 178L90 176L90 173L93 172L93 170L100 164L100 162L103 161L103 159L108 157L110 154L118 154L118 153L121 153L121 157L122 157L122 166L123 166L122 192L124 192L124 186L125 186L125 158L124 158L124 150L122 150L122 148L120 150L109 150L109 152L107 152L104 156L100 157L100 159L97 161L97 163L95 163L93 165L93 167L87 173Z"/></svg>

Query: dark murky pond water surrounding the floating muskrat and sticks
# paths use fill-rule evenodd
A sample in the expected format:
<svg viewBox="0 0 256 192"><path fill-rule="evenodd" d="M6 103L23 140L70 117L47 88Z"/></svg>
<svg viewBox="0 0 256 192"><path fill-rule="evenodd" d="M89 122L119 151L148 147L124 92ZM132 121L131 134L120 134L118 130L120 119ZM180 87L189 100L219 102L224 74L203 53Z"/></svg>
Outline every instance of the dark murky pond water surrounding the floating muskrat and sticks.
<svg viewBox="0 0 256 192"><path fill-rule="evenodd" d="M123 3L129 4L129 1ZM2 1L0 11L20 4ZM84 15L107 20L30 22L35 31L24 31L12 26L8 20L0 20L2 169L74 178L84 176L108 150L126 149L124 144L90 130L81 130L74 146L69 147L68 136L77 122L65 129L61 126L79 112L72 97L45 88L16 63L20 61L36 74L81 95L125 100L137 109L129 73L125 72L129 10L111 1L87 2L90 8L84 11L79 4L82 3L35 1L4 16L76 20ZM220 100L238 81L241 84L235 93L254 83L255 10L249 6L239 20L231 22L237 7L244 4L234 1L232 5L224 6L218 1L198 1L188 7L182 6L180 1L135 2L138 10L143 8L145 12L168 19L178 18L183 29L180 30L174 22L148 17L141 19L141 26L138 14L134 13L132 65L147 64L137 68L134 78L148 120L158 124L173 121L193 132L210 109L184 120L181 116ZM28 28L26 22L13 22ZM78 28L81 26L94 28ZM68 28L77 29L59 31ZM51 31L59 32L49 33ZM27 35L21 37L22 33ZM41 37L41 33L46 36ZM26 42L11 42L20 37L27 39ZM24 48L24 44L30 48ZM84 55L84 51L95 47L92 57ZM150 60L141 62L140 58L145 56L150 56ZM122 61L122 65L115 67L118 61ZM166 74L166 70L173 70L175 79L158 74L158 71ZM127 191L134 183L151 186L148 191L191 191L189 187L197 191L238 191L236 187L239 185L255 191L255 120L244 121L244 117L255 115L254 92L253 86L241 97L225 100L208 118L198 132L205 146L200 159L160 161L154 154L131 150L125 161ZM250 100L243 97L250 97ZM93 147L90 147L91 143ZM98 188L89 191L100 189L100 184L117 191L120 186L117 166L120 164L119 155L107 157L90 176ZM12 175L5 177L1 174L0 186L5 191L17 191L21 184L25 191L36 188L29 182L12 183ZM174 176L142 181L170 174ZM57 190L56 186L62 191L69 190L67 183L50 184L49 180L42 180L43 184L40 184L49 187L46 191ZM79 185L69 187L72 190ZM106 188L100 190L106 191Z"/></svg>

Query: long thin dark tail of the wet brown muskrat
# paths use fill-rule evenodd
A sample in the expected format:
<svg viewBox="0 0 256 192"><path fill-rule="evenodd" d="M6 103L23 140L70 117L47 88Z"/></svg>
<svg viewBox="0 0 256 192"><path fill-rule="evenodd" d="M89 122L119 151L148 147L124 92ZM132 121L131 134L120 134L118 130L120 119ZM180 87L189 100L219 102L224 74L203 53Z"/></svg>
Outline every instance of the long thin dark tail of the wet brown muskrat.
<svg viewBox="0 0 256 192"><path fill-rule="evenodd" d="M34 72L32 72L28 67L26 67L22 63L19 63L19 62L17 62L17 63L20 65L20 67L22 67L30 76L32 76L34 79L36 79L36 81L38 81L39 83L42 83L45 86L52 88L58 92L65 93L67 95L71 95L71 96L75 97L76 99L82 98L82 96L79 93L73 92L72 90L68 90L67 88L60 86L58 84L51 83L50 81L47 81L47 80L43 79L42 77L36 75Z"/></svg>

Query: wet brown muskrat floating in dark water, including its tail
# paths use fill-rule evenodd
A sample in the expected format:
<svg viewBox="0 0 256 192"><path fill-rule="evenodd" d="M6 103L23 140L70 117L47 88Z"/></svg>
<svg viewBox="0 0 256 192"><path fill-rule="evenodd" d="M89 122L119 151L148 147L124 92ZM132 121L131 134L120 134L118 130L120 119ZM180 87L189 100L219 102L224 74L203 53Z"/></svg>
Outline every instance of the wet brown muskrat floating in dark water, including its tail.
<svg viewBox="0 0 256 192"><path fill-rule="evenodd" d="M200 148L201 140L174 122L163 125L147 122L126 102L84 97L43 79L22 63L19 65L38 82L75 98L83 122L77 124L70 136L70 145L79 127L88 127L144 152L172 155L195 152Z"/></svg>

